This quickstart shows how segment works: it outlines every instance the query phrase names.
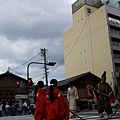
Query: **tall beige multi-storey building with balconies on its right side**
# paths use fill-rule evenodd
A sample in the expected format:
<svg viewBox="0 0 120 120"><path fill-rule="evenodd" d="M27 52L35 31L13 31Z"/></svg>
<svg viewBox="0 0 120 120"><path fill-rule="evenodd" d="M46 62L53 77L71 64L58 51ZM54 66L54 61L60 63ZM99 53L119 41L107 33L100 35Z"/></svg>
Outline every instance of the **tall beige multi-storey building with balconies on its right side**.
<svg viewBox="0 0 120 120"><path fill-rule="evenodd" d="M85 72L120 84L120 0L77 0L64 33L66 78Z"/></svg>

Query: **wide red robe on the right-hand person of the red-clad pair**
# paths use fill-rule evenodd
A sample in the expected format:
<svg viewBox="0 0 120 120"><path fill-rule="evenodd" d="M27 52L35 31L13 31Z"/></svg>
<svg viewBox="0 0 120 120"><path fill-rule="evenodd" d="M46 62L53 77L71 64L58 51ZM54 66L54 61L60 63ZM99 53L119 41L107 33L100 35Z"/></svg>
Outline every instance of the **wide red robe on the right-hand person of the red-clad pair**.
<svg viewBox="0 0 120 120"><path fill-rule="evenodd" d="M69 120L69 107L65 97L59 89L54 88L54 102L50 102L49 93L47 94L46 109L47 120Z"/></svg>

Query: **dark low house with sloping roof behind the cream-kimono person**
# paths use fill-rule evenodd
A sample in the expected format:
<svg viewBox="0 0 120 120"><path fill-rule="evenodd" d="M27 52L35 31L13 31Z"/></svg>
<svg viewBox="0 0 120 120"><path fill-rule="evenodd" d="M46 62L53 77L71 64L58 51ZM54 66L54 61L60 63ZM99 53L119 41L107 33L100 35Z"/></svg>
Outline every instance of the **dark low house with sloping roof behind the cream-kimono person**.
<svg viewBox="0 0 120 120"><path fill-rule="evenodd" d="M88 85L97 87L97 84L101 82L101 79L91 72L86 72L71 78L62 80L58 82L58 88L61 90L63 95L67 97L67 90L69 88L69 82L77 88L79 99L88 99Z"/></svg>

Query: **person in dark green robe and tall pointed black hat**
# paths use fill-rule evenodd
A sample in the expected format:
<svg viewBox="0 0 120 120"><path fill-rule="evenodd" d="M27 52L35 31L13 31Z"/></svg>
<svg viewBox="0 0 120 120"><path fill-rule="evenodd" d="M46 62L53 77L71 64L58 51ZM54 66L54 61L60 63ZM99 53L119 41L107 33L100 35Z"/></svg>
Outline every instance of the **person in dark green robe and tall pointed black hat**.
<svg viewBox="0 0 120 120"><path fill-rule="evenodd" d="M109 115L112 114L110 95L113 94L113 90L106 82L106 71L104 71L104 73L102 74L101 80L101 83L98 84L98 93L100 94L98 98L98 113L100 114L100 117L104 117L103 112L105 110L109 117Z"/></svg>

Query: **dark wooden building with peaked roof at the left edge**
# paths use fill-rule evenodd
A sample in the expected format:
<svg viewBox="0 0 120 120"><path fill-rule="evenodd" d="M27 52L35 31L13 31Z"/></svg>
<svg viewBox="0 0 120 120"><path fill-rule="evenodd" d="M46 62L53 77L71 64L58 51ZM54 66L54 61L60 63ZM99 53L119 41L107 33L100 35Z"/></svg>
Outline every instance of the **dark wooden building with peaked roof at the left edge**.
<svg viewBox="0 0 120 120"><path fill-rule="evenodd" d="M20 104L28 99L27 80L9 71L0 74L0 100L5 105L19 101Z"/></svg>

